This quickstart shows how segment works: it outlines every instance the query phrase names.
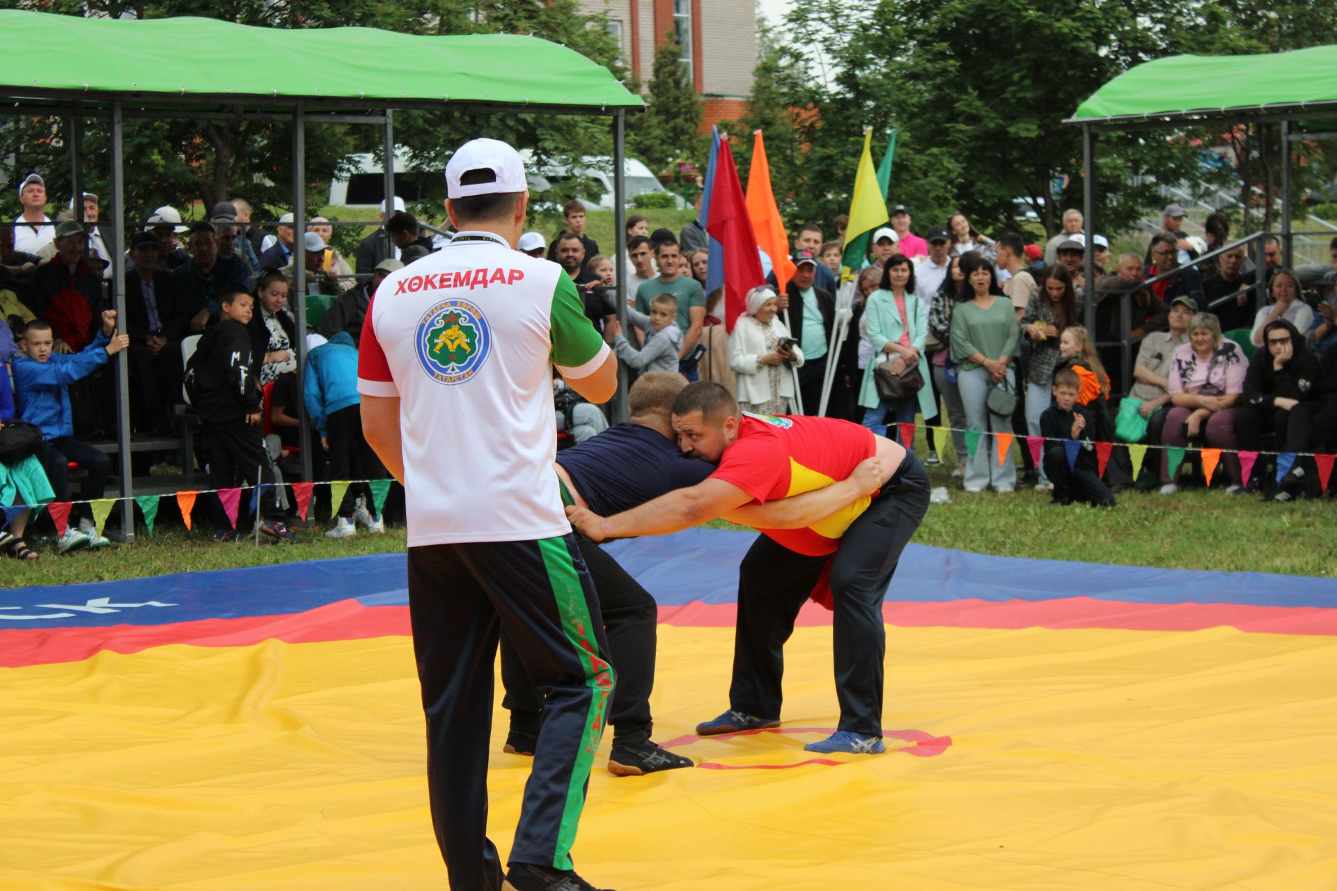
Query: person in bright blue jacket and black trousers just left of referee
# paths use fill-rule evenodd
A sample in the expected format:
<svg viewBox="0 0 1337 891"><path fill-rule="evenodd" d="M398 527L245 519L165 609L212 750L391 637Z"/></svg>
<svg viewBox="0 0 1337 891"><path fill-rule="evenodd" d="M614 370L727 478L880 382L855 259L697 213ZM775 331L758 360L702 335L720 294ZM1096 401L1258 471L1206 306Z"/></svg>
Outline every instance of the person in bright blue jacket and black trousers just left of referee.
<svg viewBox="0 0 1337 891"><path fill-rule="evenodd" d="M384 480L388 474L366 445L362 435L362 413L357 394L357 347L348 331L340 331L312 350L306 357L306 414L321 437L321 448L329 453L330 480ZM368 508L358 509L361 496ZM385 532L385 521L370 513L374 510L372 490L357 484L348 488L344 501L330 505L334 528L326 538L346 538L357 533L357 518L362 518L368 532Z"/></svg>

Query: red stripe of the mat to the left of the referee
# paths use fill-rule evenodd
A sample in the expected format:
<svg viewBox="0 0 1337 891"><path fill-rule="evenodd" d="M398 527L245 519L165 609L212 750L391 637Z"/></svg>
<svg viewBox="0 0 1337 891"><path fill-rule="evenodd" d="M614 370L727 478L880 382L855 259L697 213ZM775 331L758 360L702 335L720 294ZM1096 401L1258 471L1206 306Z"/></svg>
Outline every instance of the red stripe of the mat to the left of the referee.
<svg viewBox="0 0 1337 891"><path fill-rule="evenodd" d="M76 663L102 651L138 653L166 644L250 647L270 639L312 644L408 633L408 606L364 606L356 600L341 600L287 616L205 618L167 625L5 629L0 631L0 668Z"/></svg>

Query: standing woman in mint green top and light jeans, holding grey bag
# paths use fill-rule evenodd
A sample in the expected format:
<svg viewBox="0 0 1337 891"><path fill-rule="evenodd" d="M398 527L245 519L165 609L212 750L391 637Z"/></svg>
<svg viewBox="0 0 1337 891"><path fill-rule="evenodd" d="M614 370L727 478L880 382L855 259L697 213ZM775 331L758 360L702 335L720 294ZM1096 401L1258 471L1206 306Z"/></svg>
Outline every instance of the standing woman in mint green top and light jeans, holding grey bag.
<svg viewBox="0 0 1337 891"><path fill-rule="evenodd" d="M961 255L969 301L952 310L952 361L956 362L956 386L965 407L965 429L983 433L1012 433L1012 418L995 414L988 407L989 390L997 385L1016 393L1012 358L1021 342L1012 301L1003 297L993 264L983 255ZM1016 464L1008 454L999 466L996 435L981 435L975 457L965 462L965 490L984 492L993 485L997 492L1016 488Z"/></svg>

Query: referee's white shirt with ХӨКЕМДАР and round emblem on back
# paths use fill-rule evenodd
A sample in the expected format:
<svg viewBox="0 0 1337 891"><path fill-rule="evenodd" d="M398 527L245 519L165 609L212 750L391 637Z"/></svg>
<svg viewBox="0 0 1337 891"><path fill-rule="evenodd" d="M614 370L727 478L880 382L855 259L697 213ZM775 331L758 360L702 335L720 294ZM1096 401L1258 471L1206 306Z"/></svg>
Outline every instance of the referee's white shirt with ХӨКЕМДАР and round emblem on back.
<svg viewBox="0 0 1337 891"><path fill-rule="evenodd" d="M491 232L460 232L388 275L366 309L357 390L400 398L409 546L568 533L552 366L582 378L607 354L566 271Z"/></svg>

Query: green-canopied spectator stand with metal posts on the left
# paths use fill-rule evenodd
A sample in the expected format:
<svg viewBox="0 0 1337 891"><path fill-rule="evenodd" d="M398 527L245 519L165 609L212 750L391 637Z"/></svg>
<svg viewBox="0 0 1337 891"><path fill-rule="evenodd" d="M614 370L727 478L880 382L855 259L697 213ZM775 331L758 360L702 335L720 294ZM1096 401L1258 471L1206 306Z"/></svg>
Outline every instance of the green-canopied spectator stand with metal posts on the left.
<svg viewBox="0 0 1337 891"><path fill-rule="evenodd" d="M60 65L51 47L66 47ZM164 56L162 47L191 47ZM644 110L612 73L574 49L519 35L417 36L376 28L278 29L211 19L83 19L43 12L0 11L0 114L62 118L71 132L72 192L82 191L83 122L108 120L111 202L107 223L112 255L111 297L126 318L124 139L127 118L283 120L293 123L293 230L305 232L306 123L382 127L385 195L394 195L396 110L455 110L491 114L596 115L612 119L614 256L626 281L624 122ZM146 59L156 60L144 67ZM330 65L330 59L341 64ZM19 174L21 175L21 174ZM83 219L82 202L75 202ZM12 226L12 223L11 223ZM305 295L303 263L294 263L294 293ZM619 289L624 287L619 285ZM618 306L624 307L619 294ZM293 301L305 331L306 301ZM624 315L624 311L623 311ZM298 374L306 338L297 338ZM120 470L122 530L134 541L130 456L128 362L116 357L116 452ZM626 417L619 389L614 419ZM301 417L302 478L310 481L310 429ZM189 437L187 437L189 438Z"/></svg>

